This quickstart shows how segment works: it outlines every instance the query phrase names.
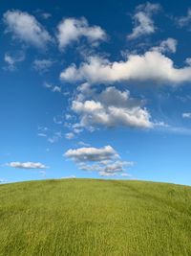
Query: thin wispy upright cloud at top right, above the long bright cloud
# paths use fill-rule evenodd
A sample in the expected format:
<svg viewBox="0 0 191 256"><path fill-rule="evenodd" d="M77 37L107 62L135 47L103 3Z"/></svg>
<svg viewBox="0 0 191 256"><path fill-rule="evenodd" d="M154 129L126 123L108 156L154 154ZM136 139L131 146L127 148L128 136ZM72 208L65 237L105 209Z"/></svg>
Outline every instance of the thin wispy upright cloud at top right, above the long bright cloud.
<svg viewBox="0 0 191 256"><path fill-rule="evenodd" d="M153 14L159 12L159 4L139 5L133 16L134 28L132 34L128 35L128 39L136 39L141 35L150 35L156 32L155 24L152 20Z"/></svg>

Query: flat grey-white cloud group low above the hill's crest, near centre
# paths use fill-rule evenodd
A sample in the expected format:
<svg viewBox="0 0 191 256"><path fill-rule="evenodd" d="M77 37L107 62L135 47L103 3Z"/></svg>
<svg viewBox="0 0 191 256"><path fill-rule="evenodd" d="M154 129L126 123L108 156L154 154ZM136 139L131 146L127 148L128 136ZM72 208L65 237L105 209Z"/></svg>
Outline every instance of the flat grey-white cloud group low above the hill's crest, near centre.
<svg viewBox="0 0 191 256"><path fill-rule="evenodd" d="M101 176L125 174L125 167L133 165L133 162L119 160L117 151L111 146L69 150L65 153L65 156L72 158L80 170L98 172Z"/></svg>

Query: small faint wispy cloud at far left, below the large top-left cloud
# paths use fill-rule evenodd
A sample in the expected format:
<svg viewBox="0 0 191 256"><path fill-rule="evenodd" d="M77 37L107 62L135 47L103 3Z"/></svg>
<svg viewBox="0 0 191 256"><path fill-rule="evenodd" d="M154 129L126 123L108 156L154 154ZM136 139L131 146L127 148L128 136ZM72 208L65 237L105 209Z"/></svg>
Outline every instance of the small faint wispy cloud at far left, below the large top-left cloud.
<svg viewBox="0 0 191 256"><path fill-rule="evenodd" d="M5 69L8 69L10 71L14 71L16 69L16 64L18 62L22 62L25 60L25 55L24 53L19 52L17 55L11 55L6 53L4 56L4 61L6 62L7 66Z"/></svg>

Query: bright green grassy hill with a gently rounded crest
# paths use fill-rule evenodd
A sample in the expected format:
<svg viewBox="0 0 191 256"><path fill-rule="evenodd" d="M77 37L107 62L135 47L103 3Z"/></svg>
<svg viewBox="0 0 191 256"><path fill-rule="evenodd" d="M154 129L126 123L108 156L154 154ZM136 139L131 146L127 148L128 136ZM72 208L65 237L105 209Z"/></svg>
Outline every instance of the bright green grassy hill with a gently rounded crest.
<svg viewBox="0 0 191 256"><path fill-rule="evenodd" d="M0 255L191 255L191 187L93 179L0 185Z"/></svg>

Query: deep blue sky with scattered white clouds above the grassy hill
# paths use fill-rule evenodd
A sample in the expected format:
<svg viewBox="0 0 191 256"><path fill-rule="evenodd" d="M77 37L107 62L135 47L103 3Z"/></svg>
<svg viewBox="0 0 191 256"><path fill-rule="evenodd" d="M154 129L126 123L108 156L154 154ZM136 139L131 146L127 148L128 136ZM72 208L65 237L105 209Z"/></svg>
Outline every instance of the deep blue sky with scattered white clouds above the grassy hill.
<svg viewBox="0 0 191 256"><path fill-rule="evenodd" d="M188 1L5 1L0 182L191 185Z"/></svg>

